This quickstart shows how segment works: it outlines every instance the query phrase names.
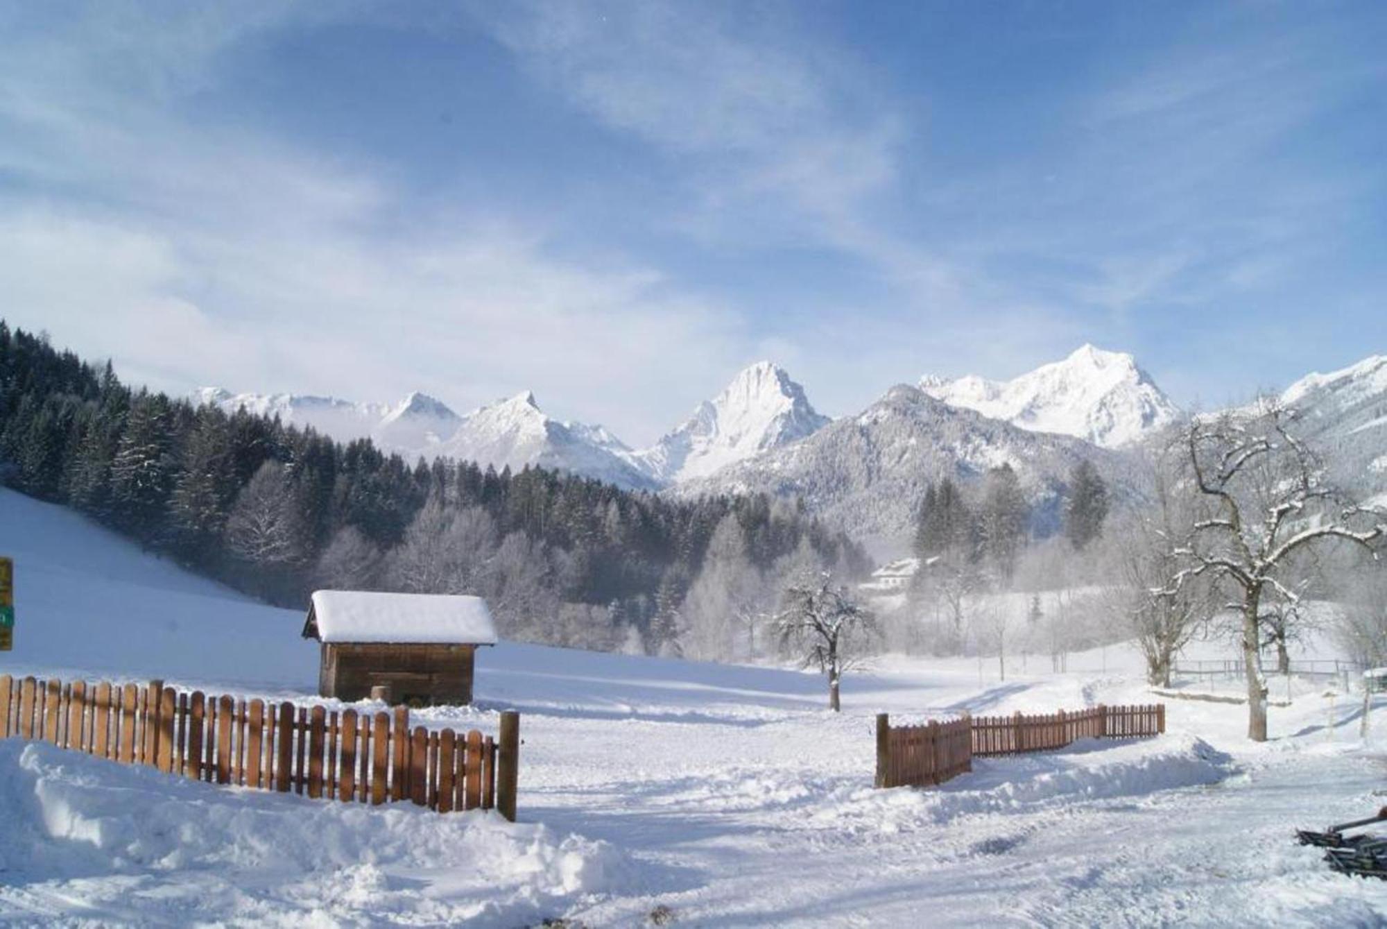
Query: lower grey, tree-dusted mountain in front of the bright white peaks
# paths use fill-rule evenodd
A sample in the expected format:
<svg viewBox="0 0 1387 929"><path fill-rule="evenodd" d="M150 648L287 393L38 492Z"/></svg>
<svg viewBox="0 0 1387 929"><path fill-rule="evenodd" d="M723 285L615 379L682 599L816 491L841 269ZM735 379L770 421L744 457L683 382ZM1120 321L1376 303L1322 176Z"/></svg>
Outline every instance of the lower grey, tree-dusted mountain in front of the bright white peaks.
<svg viewBox="0 0 1387 929"><path fill-rule="evenodd" d="M834 528L892 555L904 550L931 481L974 481L1001 464L1021 478L1035 528L1053 531L1065 481L1083 459L1099 467L1117 499L1130 496L1123 459L1114 452L1018 428L902 384L857 416L680 491L798 496Z"/></svg>

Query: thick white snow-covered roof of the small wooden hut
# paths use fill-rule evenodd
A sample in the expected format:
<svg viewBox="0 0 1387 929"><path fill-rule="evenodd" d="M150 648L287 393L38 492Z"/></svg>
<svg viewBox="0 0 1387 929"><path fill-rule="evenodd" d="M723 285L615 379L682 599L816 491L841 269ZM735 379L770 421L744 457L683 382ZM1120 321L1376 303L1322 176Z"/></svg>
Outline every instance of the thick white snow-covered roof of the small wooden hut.
<svg viewBox="0 0 1387 929"><path fill-rule="evenodd" d="M323 642L495 645L480 596L313 591L304 638Z"/></svg>

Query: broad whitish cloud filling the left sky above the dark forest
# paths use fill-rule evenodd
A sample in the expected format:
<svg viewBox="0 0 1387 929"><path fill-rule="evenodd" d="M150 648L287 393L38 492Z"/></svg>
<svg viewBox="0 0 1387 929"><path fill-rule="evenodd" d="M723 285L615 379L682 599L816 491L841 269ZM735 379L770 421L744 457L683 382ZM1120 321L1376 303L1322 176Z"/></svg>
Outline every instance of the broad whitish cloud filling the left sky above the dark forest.
<svg viewBox="0 0 1387 929"><path fill-rule="evenodd" d="M140 57L123 87L93 67L104 53L0 54L12 320L157 387L429 390L459 406L534 388L639 438L671 419L667 381L741 356L739 320L655 268L559 258L546 230L485 211L402 225L381 176L198 125L180 111L223 43L277 21L184 25L82 21L80 39L42 43Z"/></svg>

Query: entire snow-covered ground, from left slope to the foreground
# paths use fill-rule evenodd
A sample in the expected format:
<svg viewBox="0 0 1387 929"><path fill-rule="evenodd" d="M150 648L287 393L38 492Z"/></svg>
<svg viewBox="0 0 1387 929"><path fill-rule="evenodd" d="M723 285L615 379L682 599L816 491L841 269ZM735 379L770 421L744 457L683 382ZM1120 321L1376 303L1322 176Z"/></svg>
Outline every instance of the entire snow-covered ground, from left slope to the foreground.
<svg viewBox="0 0 1387 929"><path fill-rule="evenodd" d="M309 696L302 617L0 491L17 650L0 670ZM1125 648L1064 675L881 659L822 681L505 643L479 704L522 722L520 818L361 808L0 743L0 923L71 925L1383 925L1387 883L1330 874L1297 825L1387 796L1387 715L1297 682L1272 742L1244 707L1172 700L1162 739L979 760L935 790L872 790L872 715L1153 697ZM1276 696L1273 693L1273 696ZM1379 740L1381 739L1381 740Z"/></svg>

